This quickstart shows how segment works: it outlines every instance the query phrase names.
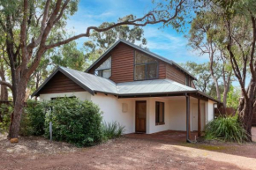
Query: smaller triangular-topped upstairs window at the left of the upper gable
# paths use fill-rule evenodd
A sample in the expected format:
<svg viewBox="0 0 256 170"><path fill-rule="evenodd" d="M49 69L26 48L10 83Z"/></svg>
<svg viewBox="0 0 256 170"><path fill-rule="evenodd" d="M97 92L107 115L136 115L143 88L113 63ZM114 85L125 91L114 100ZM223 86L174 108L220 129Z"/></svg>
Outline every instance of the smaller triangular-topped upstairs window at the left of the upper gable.
<svg viewBox="0 0 256 170"><path fill-rule="evenodd" d="M102 78L111 77L111 56L94 71L94 75Z"/></svg>

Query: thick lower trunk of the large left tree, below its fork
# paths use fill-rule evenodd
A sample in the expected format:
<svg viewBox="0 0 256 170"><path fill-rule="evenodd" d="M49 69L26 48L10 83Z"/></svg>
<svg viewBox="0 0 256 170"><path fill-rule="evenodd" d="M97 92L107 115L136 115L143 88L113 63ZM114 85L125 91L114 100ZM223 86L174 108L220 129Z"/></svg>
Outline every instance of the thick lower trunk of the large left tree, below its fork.
<svg viewBox="0 0 256 170"><path fill-rule="evenodd" d="M20 118L22 115L24 102L26 99L26 86L27 86L26 78L21 78L19 84L17 85L17 95L16 101L14 104L14 110L11 115L11 126L9 129L9 138L18 138L19 137L19 126L20 126Z"/></svg>

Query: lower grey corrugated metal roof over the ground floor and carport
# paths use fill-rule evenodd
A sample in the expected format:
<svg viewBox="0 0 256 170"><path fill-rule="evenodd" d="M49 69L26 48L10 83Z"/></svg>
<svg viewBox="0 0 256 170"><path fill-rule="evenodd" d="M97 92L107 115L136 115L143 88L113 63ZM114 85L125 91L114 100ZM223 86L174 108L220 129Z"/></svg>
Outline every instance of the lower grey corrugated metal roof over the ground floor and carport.
<svg viewBox="0 0 256 170"><path fill-rule="evenodd" d="M64 67L58 67L49 76L49 78L47 78L43 82L43 84L40 85L40 87L32 94L32 97L38 96L43 86L46 85L49 80L56 75L58 71L62 72L66 77L71 78L72 81L80 85L92 95L94 95L94 93L96 92L113 94L119 97L129 97L134 95L143 96L156 94L200 93L200 95L207 97L207 99L215 100L210 96L207 96L203 92L200 92L192 87L179 84L169 79L143 80L116 84L108 78L102 78L93 74ZM218 100L215 101L220 102Z"/></svg>

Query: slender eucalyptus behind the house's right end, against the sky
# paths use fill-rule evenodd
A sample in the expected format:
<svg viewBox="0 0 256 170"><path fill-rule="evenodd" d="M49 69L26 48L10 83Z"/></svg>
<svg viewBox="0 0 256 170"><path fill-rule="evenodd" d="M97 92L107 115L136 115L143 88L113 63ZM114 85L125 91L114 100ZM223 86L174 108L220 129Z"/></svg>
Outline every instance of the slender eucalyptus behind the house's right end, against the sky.
<svg viewBox="0 0 256 170"><path fill-rule="evenodd" d="M215 83L217 99L222 100L224 107L226 107L232 69L230 60L227 57L227 51L224 49L222 41L219 41L224 36L220 26L216 26L220 24L222 23L220 23L215 12L200 11L196 18L192 20L192 26L189 32L189 45L199 51L200 55L208 56L208 69ZM221 81L220 78L222 78ZM223 92L220 91L220 82L222 82L224 87Z"/></svg>

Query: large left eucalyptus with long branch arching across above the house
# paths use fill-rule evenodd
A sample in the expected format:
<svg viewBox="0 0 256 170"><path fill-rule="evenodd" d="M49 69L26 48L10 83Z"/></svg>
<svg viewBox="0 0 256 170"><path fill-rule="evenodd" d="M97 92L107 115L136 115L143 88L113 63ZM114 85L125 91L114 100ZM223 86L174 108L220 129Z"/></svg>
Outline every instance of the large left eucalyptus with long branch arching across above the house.
<svg viewBox="0 0 256 170"><path fill-rule="evenodd" d="M59 47L82 37L91 31L105 32L117 26L147 26L162 23L179 26L184 22L191 1L170 0L157 5L143 17L133 15L111 26L88 26L85 33L69 38L62 36L65 20L78 9L78 0L2 0L0 1L0 26L4 32L6 52L10 62L11 83L0 81L12 91L14 111L11 116L9 137L19 137L20 116L26 98L26 88L34 71L38 69L42 56L52 48ZM86 18L85 18L86 21ZM56 30L59 32L56 33ZM16 36L16 35L19 36Z"/></svg>

